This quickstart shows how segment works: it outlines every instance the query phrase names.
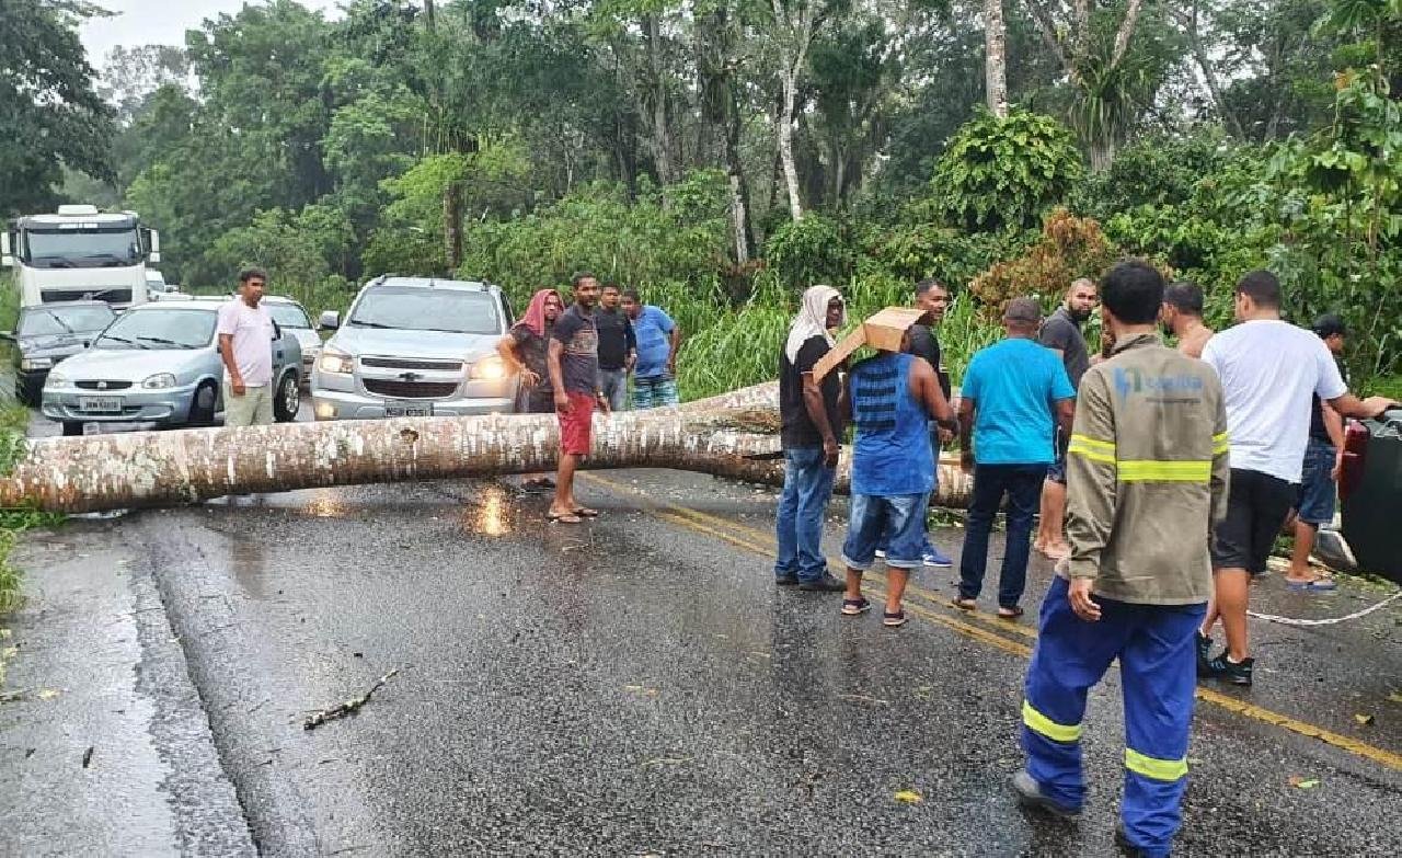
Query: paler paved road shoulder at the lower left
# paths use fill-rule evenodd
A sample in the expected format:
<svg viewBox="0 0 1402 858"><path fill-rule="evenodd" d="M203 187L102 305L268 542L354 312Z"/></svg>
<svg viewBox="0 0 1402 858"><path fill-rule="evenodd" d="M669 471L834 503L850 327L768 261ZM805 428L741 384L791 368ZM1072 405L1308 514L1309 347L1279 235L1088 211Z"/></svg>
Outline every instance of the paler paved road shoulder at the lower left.
<svg viewBox="0 0 1402 858"><path fill-rule="evenodd" d="M149 568L111 522L31 533L0 625L0 852L252 855Z"/></svg>

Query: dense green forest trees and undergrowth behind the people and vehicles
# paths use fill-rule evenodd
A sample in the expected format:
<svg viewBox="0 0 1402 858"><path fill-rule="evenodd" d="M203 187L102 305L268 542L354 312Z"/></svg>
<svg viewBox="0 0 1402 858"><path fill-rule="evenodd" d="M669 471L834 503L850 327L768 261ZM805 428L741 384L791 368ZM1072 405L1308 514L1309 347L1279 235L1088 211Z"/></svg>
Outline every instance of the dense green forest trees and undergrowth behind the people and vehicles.
<svg viewBox="0 0 1402 858"><path fill-rule="evenodd" d="M86 114L20 111L21 137L72 121L53 142L77 143L38 151L29 196L0 209L48 205L69 168L73 198L158 227L161 268L189 287L259 264L317 311L386 272L489 279L522 301L590 269L681 321L698 395L773 374L815 282L854 313L924 276L976 285L972 327L945 336L980 342L974 320L1007 297L1054 300L1137 254L1200 282L1216 325L1235 280L1270 266L1293 320L1354 325L1359 379L1402 365L1394 0L1092 0L1084 20L1005 3L1007 118L981 104L972 0L449 0L432 17L268 0L182 48L128 46L98 81L81 3L6 8L22 59L0 86L29 91L32 57L50 57ZM775 151L799 48L794 219Z"/></svg>

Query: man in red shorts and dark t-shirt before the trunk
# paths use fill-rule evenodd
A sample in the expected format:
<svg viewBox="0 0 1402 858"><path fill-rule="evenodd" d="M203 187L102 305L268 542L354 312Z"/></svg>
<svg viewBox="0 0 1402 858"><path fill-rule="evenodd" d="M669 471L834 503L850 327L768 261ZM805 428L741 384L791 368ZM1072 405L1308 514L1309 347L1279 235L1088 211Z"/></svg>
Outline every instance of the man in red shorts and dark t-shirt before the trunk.
<svg viewBox="0 0 1402 858"><path fill-rule="evenodd" d="M559 474L555 499L545 516L551 522L578 524L599 515L575 500L575 468L580 457L589 456L594 405L608 414L608 400L599 390L599 328L594 327L599 280L580 272L572 282L575 303L555 320L550 334L550 383L559 418Z"/></svg>

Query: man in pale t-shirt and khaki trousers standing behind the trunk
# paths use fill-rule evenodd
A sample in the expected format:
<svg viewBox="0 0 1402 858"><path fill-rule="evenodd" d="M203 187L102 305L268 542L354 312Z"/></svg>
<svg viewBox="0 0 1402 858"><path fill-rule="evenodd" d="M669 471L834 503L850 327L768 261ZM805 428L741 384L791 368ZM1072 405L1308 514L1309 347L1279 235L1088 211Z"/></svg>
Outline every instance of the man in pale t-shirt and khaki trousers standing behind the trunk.
<svg viewBox="0 0 1402 858"><path fill-rule="evenodd" d="M276 328L261 306L268 275L238 275L238 297L219 308L219 356L224 362L224 425L261 426L273 421L272 341Z"/></svg>

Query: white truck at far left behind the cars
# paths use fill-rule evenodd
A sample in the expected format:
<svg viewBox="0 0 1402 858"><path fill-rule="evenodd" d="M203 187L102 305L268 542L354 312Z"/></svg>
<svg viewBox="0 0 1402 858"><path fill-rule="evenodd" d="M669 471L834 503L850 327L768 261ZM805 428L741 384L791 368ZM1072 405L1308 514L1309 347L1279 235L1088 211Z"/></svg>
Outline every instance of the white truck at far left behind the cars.
<svg viewBox="0 0 1402 858"><path fill-rule="evenodd" d="M160 237L136 212L59 206L27 214L0 233L0 264L17 268L20 306L100 300L125 310L147 300L146 265L160 262Z"/></svg>

